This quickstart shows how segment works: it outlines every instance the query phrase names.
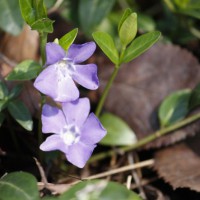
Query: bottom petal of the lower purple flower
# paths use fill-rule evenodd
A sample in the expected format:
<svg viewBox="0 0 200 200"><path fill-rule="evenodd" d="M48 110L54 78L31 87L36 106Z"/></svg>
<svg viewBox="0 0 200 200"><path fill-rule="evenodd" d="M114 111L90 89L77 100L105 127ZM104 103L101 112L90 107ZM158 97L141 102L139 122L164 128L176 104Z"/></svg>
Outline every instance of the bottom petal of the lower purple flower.
<svg viewBox="0 0 200 200"><path fill-rule="evenodd" d="M81 142L69 146L67 160L79 168L83 168L90 158L96 145L87 146Z"/></svg>

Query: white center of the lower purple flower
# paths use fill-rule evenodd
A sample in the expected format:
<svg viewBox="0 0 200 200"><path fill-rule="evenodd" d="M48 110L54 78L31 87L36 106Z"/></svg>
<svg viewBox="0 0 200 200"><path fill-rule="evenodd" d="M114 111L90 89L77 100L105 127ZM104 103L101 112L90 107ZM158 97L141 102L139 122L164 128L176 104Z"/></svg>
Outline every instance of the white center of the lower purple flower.
<svg viewBox="0 0 200 200"><path fill-rule="evenodd" d="M80 140L80 130L75 125L66 125L62 129L60 137L66 145L75 144Z"/></svg>

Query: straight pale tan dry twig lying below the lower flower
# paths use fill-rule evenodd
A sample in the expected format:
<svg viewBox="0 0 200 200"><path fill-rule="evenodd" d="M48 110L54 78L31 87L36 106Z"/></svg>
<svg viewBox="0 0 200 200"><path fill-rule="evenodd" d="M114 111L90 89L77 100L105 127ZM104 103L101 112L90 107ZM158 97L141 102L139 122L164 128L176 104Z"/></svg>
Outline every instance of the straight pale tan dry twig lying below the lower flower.
<svg viewBox="0 0 200 200"><path fill-rule="evenodd" d="M113 170L110 170L110 171L106 171L106 172L102 172L102 173L99 173L99 174L95 174L93 176L89 176L87 178L83 178L83 180L91 180L91 179L96 179L96 178L103 178L103 177L106 177L106 176L110 176L110 175L113 175L113 174L118 174L118 173L121 173L121 172L129 171L129 170L133 170L133 169L137 169L137 168L152 166L153 164L154 164L154 160L150 159L150 160L142 161L142 162L139 162L139 163L136 163L136 164L127 165L127 166L120 167L120 168L117 168L117 169L113 169Z"/></svg>

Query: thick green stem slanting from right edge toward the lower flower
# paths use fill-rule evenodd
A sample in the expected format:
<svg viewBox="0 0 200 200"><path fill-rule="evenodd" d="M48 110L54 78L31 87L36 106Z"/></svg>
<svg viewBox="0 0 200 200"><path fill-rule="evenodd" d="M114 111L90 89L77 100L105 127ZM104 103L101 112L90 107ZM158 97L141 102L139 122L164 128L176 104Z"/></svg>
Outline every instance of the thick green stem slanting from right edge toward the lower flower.
<svg viewBox="0 0 200 200"><path fill-rule="evenodd" d="M184 120L177 122L177 123L175 123L171 126L168 126L166 128L162 128L162 129L154 132L153 134L139 140L137 143L130 145L130 146L126 146L126 147L121 147L121 148L119 148L119 150L121 150L123 152L127 152L127 151L137 149L139 147L142 147L142 146L148 144L149 142L154 141L155 139L157 139L157 138L159 138L159 137L161 137L161 136L163 136L163 135L165 135L169 132L175 131L175 130L177 130L177 129L183 127L183 126L186 126L186 125L188 125L188 124L190 124L190 123L192 123L192 122L194 122L198 119L200 119L200 113L192 115L190 117L187 117ZM113 151L113 150L103 152L103 153L99 153L97 155L92 156L89 162L102 160L104 158L111 157L114 154L115 154L115 151Z"/></svg>

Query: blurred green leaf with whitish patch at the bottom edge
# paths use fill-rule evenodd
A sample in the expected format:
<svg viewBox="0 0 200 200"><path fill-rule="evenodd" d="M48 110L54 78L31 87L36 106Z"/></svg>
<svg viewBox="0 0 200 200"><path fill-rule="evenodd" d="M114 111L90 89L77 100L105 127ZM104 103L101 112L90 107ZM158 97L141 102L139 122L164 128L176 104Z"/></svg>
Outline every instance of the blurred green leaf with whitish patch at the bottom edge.
<svg viewBox="0 0 200 200"><path fill-rule="evenodd" d="M106 180L83 181L63 193L59 200L142 200L124 185Z"/></svg>

